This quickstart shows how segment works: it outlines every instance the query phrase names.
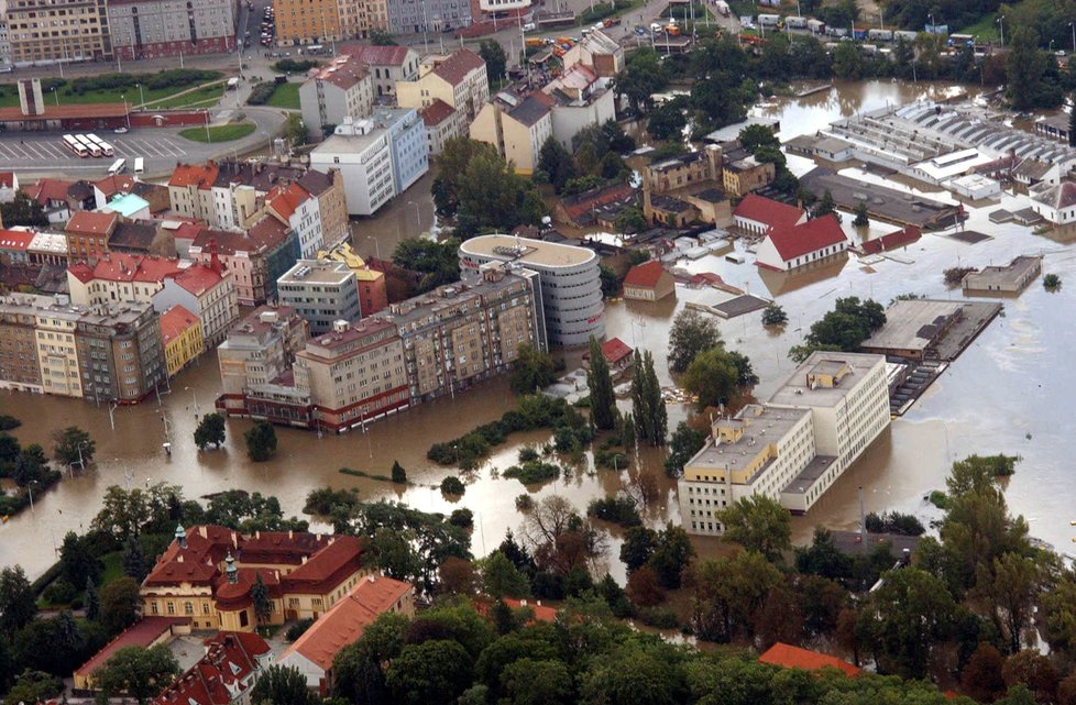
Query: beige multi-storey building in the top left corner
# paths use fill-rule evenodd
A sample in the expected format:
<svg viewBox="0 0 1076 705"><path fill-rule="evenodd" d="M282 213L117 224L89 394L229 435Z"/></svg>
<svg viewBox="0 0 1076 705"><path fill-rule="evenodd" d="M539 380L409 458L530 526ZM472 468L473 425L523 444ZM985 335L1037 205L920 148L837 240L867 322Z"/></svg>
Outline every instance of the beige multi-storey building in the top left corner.
<svg viewBox="0 0 1076 705"><path fill-rule="evenodd" d="M98 60L112 56L103 0L10 0L11 60Z"/></svg>

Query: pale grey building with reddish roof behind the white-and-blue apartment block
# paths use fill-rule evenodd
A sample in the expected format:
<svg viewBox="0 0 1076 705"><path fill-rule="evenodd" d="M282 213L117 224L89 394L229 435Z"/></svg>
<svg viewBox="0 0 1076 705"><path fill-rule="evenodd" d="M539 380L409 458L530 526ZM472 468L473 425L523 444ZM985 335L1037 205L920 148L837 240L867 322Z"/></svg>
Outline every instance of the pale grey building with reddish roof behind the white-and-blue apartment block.
<svg viewBox="0 0 1076 705"><path fill-rule="evenodd" d="M370 114L374 81L366 66L353 56L338 56L310 74L299 87L299 104L307 131L320 139L345 118Z"/></svg>

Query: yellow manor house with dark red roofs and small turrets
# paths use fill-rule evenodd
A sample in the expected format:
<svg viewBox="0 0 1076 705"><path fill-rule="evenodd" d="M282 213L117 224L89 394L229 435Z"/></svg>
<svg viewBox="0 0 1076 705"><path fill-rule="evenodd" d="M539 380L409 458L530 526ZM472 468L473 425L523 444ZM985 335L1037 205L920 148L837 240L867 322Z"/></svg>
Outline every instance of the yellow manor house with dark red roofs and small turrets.
<svg viewBox="0 0 1076 705"><path fill-rule="evenodd" d="M316 619L370 572L364 551L352 536L180 526L142 583L142 614L189 617L194 629L253 631L250 593L261 576L272 604L268 624Z"/></svg>

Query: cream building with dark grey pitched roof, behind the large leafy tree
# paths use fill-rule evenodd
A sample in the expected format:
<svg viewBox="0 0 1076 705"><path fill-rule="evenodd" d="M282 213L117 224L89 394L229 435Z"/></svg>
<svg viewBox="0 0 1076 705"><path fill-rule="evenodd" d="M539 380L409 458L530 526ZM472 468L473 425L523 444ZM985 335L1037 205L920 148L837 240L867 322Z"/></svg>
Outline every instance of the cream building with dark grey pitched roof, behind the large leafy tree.
<svg viewBox="0 0 1076 705"><path fill-rule="evenodd" d="M506 102L498 96L471 123L471 139L496 147L517 174L534 174L541 145L553 134L549 104L537 96Z"/></svg>

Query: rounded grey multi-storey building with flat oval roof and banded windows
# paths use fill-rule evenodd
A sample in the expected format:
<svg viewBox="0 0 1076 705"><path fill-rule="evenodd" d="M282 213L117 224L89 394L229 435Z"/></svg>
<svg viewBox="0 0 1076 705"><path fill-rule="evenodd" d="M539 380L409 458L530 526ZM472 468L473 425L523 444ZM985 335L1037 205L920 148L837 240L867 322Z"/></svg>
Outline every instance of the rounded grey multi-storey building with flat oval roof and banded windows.
<svg viewBox="0 0 1076 705"><path fill-rule="evenodd" d="M538 272L544 337L550 345L579 348L605 337L605 306L599 257L593 250L510 235L482 235L460 245L460 267L476 273L490 262Z"/></svg>

